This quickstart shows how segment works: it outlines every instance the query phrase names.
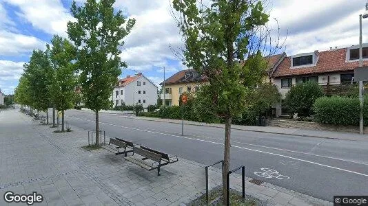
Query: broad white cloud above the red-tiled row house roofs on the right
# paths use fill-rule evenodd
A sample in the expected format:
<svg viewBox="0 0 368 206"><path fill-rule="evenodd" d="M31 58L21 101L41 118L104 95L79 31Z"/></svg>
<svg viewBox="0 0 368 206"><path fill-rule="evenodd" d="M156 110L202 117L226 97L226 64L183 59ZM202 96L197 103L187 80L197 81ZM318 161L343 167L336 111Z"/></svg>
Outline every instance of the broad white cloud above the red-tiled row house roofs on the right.
<svg viewBox="0 0 368 206"><path fill-rule="evenodd" d="M281 36L286 39L287 54L325 51L329 47L348 47L359 43L359 14L364 12L365 2L351 0L275 1L271 17L278 19ZM272 23L275 27L275 24ZM364 35L368 21L363 20ZM274 36L274 38L276 38Z"/></svg>

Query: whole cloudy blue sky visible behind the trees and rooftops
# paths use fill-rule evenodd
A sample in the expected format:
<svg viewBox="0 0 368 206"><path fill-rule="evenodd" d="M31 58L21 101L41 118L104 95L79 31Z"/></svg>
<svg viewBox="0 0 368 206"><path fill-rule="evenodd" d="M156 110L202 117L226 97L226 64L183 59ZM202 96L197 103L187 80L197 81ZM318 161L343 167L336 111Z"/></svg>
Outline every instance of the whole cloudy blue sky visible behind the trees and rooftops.
<svg viewBox="0 0 368 206"><path fill-rule="evenodd" d="M77 0L83 5L84 0ZM172 0L116 0L136 25L125 38L121 58L127 62L121 78L142 72L159 84L177 71L187 69L172 52L183 43L170 9ZM365 0L267 0L269 27L273 41L285 41L288 56L324 51L330 47L349 47L359 43L359 14L365 12ZM23 64L32 49L45 49L52 35L65 38L71 21L72 0L0 0L0 89L13 93ZM276 21L277 20L277 21ZM277 23L280 28L278 35ZM363 19L363 43L368 43L368 19Z"/></svg>

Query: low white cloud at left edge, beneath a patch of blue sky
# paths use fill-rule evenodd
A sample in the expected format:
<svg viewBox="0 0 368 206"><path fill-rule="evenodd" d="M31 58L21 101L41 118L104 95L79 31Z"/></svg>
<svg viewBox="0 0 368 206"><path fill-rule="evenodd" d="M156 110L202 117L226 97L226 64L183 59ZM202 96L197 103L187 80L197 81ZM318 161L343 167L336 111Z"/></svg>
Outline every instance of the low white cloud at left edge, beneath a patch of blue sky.
<svg viewBox="0 0 368 206"><path fill-rule="evenodd" d="M0 31L0 56L16 56L33 49L45 49L45 42L34 36Z"/></svg>

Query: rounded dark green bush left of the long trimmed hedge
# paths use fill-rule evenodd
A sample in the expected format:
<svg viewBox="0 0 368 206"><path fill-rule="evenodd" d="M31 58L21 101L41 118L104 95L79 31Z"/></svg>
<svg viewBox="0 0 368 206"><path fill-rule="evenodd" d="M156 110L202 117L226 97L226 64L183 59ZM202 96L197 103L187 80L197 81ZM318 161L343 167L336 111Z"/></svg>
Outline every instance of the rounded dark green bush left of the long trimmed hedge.
<svg viewBox="0 0 368 206"><path fill-rule="evenodd" d="M323 96L323 89L317 82L297 84L290 89L285 97L284 106L291 113L298 113L298 117L313 115L313 104L317 98Z"/></svg>

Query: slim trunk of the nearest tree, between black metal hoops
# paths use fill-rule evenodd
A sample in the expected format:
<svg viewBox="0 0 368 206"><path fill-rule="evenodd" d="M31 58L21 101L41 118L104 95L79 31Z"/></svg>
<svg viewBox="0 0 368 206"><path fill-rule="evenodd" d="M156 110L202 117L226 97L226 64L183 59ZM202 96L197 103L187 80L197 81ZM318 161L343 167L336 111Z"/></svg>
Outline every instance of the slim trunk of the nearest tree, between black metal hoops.
<svg viewBox="0 0 368 206"><path fill-rule="evenodd" d="M230 135L232 130L232 117L226 118L225 123L225 148L223 153L223 203L226 205L226 198L227 198L227 172L229 172L230 168Z"/></svg>

